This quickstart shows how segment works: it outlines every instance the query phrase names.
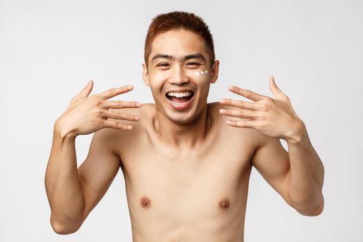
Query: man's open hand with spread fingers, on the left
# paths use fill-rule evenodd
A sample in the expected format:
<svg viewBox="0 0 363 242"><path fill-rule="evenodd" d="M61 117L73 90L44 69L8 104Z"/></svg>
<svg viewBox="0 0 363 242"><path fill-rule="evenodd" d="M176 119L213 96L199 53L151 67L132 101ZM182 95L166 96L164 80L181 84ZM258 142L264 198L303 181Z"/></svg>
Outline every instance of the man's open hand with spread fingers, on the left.
<svg viewBox="0 0 363 242"><path fill-rule="evenodd" d="M75 137L93 133L103 128L130 130L132 129L131 125L108 119L129 121L138 121L140 119L137 115L120 111L122 108L140 108L142 106L140 102L108 101L111 97L131 91L133 86L121 86L89 96L92 89L93 81L91 80L80 93L72 98L71 104L57 119L57 124L59 124L59 129L62 129L62 133Z"/></svg>

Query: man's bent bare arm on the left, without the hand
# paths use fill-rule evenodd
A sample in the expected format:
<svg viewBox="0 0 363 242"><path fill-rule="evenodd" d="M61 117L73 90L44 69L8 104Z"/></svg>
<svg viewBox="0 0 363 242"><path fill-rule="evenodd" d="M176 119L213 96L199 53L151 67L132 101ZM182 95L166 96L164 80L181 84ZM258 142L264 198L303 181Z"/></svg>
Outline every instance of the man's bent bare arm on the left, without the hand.
<svg viewBox="0 0 363 242"><path fill-rule="evenodd" d="M89 154L77 169L75 136L55 122L53 146L46 168L50 223L57 234L76 232L106 193L120 168L110 147L113 129L94 133Z"/></svg>

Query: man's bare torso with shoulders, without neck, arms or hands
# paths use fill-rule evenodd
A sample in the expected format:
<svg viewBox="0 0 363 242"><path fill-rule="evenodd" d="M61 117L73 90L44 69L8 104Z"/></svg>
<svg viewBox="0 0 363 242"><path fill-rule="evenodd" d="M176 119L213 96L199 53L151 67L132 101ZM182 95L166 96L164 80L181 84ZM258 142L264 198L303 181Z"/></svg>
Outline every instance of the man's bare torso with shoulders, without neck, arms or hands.
<svg viewBox="0 0 363 242"><path fill-rule="evenodd" d="M229 127L220 108L208 104L212 126L191 151L159 142L153 104L143 104L142 122L122 135L133 241L243 241L257 131Z"/></svg>

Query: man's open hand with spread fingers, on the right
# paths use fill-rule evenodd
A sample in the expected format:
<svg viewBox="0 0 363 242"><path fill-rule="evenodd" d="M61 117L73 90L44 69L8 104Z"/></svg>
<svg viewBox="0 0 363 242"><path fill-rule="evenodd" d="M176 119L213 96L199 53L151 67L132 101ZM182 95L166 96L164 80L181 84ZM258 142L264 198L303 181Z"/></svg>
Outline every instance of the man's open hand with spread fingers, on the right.
<svg viewBox="0 0 363 242"><path fill-rule="evenodd" d="M221 104L235 106L239 109L220 109L219 113L241 118L239 121L228 120L227 124L232 127L256 129L271 138L288 140L304 132L304 122L292 109L288 96L277 87L274 77L270 77L269 86L275 97L274 99L237 86L230 86L230 91L247 97L254 102L223 98L219 101Z"/></svg>

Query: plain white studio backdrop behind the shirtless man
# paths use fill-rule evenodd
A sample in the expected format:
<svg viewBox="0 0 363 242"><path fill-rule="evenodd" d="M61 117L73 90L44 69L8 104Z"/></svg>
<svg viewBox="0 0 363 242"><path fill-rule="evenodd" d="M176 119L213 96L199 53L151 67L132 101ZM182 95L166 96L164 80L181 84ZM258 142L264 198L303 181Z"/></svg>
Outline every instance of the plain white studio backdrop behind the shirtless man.
<svg viewBox="0 0 363 242"><path fill-rule="evenodd" d="M153 102L142 82L145 36L172 10L200 15L214 36L221 68L208 101L238 98L230 84L273 97L274 75L324 162L315 217L253 169L245 241L363 241L362 1L0 1L0 241L131 241L121 170L69 235L50 226L44 174L54 122L90 79L91 94L133 84L112 100ZM92 136L77 137L77 165Z"/></svg>

